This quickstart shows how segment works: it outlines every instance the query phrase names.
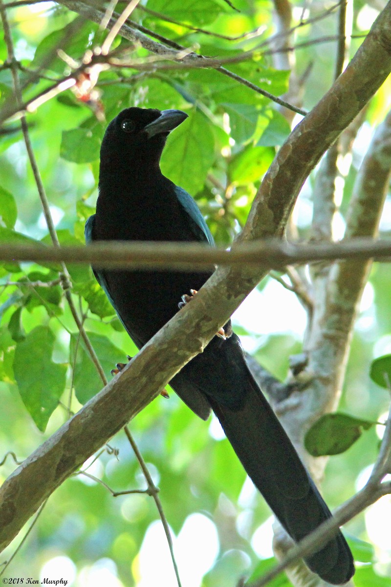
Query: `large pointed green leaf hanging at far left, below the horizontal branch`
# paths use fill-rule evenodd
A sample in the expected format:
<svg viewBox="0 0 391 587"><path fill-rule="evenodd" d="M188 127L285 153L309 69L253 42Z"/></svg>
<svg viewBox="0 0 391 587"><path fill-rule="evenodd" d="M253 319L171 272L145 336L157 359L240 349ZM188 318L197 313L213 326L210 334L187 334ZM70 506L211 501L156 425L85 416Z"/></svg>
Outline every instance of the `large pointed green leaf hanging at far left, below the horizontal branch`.
<svg viewBox="0 0 391 587"><path fill-rule="evenodd" d="M46 326L36 326L16 345L13 359L22 401L42 432L65 389L67 367L53 363L54 344L52 331Z"/></svg>

